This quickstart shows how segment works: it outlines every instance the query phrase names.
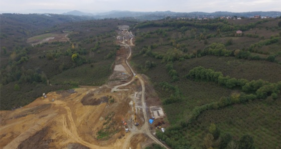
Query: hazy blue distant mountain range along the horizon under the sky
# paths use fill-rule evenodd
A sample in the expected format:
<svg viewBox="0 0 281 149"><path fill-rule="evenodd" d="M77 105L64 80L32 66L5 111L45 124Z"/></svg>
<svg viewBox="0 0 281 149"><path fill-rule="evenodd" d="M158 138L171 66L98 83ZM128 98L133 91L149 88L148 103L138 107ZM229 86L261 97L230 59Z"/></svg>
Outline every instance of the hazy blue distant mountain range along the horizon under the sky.
<svg viewBox="0 0 281 149"><path fill-rule="evenodd" d="M173 11L155 11L155 12L141 12L141 11L119 11L112 10L102 13L86 13L78 10L62 13L65 15L78 15L78 16L91 16L96 19L100 18L120 18L120 17L133 17L135 19L161 19L167 16L172 18L188 17L188 18L203 18L203 17L220 17L220 16L238 16L238 17L253 17L254 15L278 17L281 15L281 11L253 11L253 12L173 12Z"/></svg>

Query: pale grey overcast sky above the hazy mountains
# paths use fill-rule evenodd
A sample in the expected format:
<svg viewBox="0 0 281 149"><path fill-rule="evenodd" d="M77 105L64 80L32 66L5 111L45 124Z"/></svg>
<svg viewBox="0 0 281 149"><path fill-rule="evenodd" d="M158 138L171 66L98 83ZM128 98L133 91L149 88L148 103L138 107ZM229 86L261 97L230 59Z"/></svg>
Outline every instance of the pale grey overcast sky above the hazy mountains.
<svg viewBox="0 0 281 149"><path fill-rule="evenodd" d="M63 13L130 10L175 12L281 11L281 0L0 0L0 11L11 13Z"/></svg>

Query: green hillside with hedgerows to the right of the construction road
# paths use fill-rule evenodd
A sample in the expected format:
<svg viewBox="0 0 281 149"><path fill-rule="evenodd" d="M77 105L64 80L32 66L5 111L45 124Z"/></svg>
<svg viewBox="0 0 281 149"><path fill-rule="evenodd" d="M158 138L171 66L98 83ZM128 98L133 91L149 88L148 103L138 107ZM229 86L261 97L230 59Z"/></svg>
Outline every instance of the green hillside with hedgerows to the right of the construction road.
<svg viewBox="0 0 281 149"><path fill-rule="evenodd" d="M172 148L226 148L241 146L249 134L256 148L281 147L280 21L169 19L132 26L134 68L151 78L172 124L158 137Z"/></svg>

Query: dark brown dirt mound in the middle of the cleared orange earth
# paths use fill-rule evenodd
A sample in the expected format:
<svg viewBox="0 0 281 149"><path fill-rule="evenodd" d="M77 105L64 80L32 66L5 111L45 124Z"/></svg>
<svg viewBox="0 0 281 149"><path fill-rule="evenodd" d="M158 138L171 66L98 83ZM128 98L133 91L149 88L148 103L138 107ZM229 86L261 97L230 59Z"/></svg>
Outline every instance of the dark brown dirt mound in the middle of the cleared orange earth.
<svg viewBox="0 0 281 149"><path fill-rule="evenodd" d="M81 103L83 105L99 105L107 101L108 101L108 97L106 96L102 96L100 98L94 98L94 93L88 93L85 96L83 96Z"/></svg>

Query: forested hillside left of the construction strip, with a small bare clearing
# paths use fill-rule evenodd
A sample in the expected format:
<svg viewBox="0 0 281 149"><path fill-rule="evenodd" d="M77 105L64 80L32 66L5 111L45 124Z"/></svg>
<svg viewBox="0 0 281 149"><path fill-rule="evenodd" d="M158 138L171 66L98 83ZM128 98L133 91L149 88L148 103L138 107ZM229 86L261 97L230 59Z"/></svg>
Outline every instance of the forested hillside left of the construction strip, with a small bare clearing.
<svg viewBox="0 0 281 149"><path fill-rule="evenodd" d="M115 29L135 23L56 14L0 16L1 110L24 106L42 92L105 83L119 48Z"/></svg>

